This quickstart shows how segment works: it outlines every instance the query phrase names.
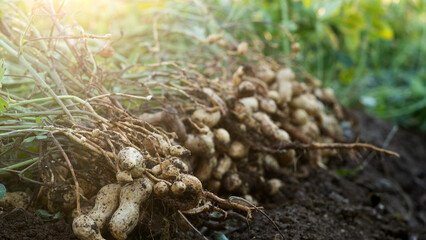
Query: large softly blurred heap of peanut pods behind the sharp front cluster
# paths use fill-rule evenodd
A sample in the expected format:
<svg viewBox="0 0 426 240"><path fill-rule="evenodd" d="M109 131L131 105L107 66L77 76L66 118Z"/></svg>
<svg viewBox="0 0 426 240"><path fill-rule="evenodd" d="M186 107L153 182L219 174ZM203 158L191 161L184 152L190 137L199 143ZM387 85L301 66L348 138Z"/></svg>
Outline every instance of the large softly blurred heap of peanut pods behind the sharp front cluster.
<svg viewBox="0 0 426 240"><path fill-rule="evenodd" d="M320 88L315 79L299 81L287 66L273 70L261 64L250 74L244 69L239 67L232 81L220 81L220 89L213 81L212 87L205 83L201 91L208 103L174 116L173 124L166 112L140 118L177 132L176 143L191 152L190 169L209 191L255 202L251 193L258 188L274 195L282 186L266 172L298 163L325 167L337 154L333 149L268 152L256 145L279 149L289 143L333 143L343 135L342 111L333 90Z"/></svg>

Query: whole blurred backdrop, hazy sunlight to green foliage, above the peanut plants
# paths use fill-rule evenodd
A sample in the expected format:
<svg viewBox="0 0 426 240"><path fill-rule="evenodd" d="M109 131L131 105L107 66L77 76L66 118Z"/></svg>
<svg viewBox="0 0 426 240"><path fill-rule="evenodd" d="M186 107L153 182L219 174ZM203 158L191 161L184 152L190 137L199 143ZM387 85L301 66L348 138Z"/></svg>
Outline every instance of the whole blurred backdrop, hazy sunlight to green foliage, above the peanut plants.
<svg viewBox="0 0 426 240"><path fill-rule="evenodd" d="M34 4L14 2L26 11ZM206 39L226 32L250 47L261 45L266 55L300 66L332 87L344 105L426 133L425 0L54 2L86 33L112 33L114 58L121 62L148 61L143 56L156 41L154 22L160 31L173 29L159 36L162 46L170 42L173 56L185 55L191 47L173 33ZM43 21L36 17L34 24ZM300 44L291 62L284 28Z"/></svg>

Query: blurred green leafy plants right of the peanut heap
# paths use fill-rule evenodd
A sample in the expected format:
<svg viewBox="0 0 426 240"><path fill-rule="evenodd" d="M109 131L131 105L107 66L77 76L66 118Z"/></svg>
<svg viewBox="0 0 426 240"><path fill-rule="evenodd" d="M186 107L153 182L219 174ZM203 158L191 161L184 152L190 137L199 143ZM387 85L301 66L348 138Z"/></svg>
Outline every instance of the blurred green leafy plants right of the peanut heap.
<svg viewBox="0 0 426 240"><path fill-rule="evenodd" d="M418 0L243 1L251 18L279 23L301 45L297 62L341 102L426 132L426 4ZM287 37L256 24L265 53Z"/></svg>

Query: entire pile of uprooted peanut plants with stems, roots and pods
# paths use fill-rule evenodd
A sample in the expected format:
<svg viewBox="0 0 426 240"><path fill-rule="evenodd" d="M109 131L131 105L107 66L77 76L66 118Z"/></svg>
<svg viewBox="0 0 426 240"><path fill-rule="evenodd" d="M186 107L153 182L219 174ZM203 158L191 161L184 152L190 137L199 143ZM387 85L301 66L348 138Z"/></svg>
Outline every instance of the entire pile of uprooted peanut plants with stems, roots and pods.
<svg viewBox="0 0 426 240"><path fill-rule="evenodd" d="M65 212L80 239L126 239L137 225L167 235L228 210L250 217L285 173L325 168L346 150L387 152L346 142L333 91L291 57L263 56L255 40L220 28L195 38L156 16L147 56L126 65L110 35L63 25L62 6L37 4L26 14L1 3L0 177L35 186L7 192L1 206ZM191 40L183 59L167 48L179 37L161 38L171 33Z"/></svg>

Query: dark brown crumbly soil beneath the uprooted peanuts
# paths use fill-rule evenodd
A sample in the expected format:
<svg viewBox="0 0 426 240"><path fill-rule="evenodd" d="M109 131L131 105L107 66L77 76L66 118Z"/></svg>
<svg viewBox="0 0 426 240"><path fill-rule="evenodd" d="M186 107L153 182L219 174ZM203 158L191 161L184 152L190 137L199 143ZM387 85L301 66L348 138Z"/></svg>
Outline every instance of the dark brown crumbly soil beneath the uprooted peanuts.
<svg viewBox="0 0 426 240"><path fill-rule="evenodd" d="M226 225L210 223L200 231L209 239L282 239L276 227L285 239L426 239L426 138L404 130L393 135L396 129L387 122L360 112L354 116L360 141L401 157L360 153L330 161L327 170L282 176L281 192L260 203L276 226L254 212L248 225L231 214ZM135 231L131 239L140 236ZM161 234L144 236L160 239ZM174 236L202 239L193 232ZM76 238L64 219L43 222L23 209L6 209L0 211L0 239Z"/></svg>

